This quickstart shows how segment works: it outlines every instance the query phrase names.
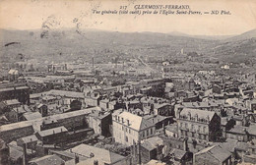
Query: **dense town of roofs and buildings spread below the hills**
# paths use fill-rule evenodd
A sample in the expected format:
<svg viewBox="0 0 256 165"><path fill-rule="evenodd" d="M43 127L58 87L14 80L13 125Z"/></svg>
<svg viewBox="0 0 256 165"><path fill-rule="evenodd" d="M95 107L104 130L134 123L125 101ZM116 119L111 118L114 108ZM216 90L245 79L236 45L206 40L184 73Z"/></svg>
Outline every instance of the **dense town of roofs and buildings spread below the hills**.
<svg viewBox="0 0 256 165"><path fill-rule="evenodd" d="M255 163L255 72L229 72L246 64L184 71L175 63L160 57L153 65L140 56L108 63L79 58L44 70L32 60L6 63L1 163Z"/></svg>

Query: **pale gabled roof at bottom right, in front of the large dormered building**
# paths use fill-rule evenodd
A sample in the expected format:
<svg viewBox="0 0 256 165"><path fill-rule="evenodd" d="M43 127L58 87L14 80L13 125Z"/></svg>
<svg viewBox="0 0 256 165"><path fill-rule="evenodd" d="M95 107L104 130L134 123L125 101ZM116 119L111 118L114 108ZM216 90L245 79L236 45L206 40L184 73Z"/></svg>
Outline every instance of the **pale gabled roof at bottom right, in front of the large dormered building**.
<svg viewBox="0 0 256 165"><path fill-rule="evenodd" d="M213 145L209 146L195 154L195 156L198 156L200 154L208 153L218 159L220 162L224 162L229 156L231 156L231 153L227 150L225 150L220 145Z"/></svg>

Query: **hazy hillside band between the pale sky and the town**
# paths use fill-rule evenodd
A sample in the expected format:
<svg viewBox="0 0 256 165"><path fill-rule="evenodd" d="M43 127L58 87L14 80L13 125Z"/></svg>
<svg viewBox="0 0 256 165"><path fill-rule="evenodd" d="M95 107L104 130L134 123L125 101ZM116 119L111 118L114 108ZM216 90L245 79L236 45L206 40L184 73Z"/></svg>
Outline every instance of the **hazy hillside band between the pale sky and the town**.
<svg viewBox="0 0 256 165"><path fill-rule="evenodd" d="M65 28L35 30L0 30L2 63L37 59L47 64L83 58L96 63L114 58L175 59L184 53L197 52L200 58L217 58L221 62L245 62L255 57L255 29L227 39L218 36L190 36L184 33L117 32L95 29ZM211 39L209 39L211 38ZM24 59L21 59L21 56Z"/></svg>

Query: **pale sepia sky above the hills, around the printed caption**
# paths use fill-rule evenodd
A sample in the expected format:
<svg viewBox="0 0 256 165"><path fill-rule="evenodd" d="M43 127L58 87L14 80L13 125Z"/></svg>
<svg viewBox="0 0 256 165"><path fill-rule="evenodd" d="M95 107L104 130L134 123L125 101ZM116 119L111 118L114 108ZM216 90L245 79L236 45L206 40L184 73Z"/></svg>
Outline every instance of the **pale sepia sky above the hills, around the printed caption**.
<svg viewBox="0 0 256 165"><path fill-rule="evenodd" d="M189 5L191 11L230 15L97 15L135 5ZM0 27L37 29L79 27L121 32L179 31L192 35L232 35L256 28L255 0L2 0Z"/></svg>

